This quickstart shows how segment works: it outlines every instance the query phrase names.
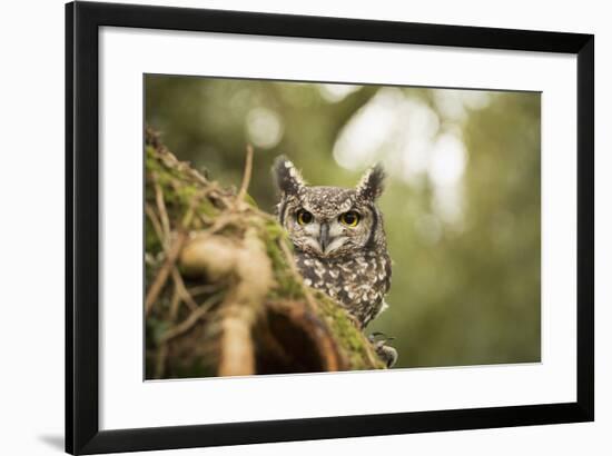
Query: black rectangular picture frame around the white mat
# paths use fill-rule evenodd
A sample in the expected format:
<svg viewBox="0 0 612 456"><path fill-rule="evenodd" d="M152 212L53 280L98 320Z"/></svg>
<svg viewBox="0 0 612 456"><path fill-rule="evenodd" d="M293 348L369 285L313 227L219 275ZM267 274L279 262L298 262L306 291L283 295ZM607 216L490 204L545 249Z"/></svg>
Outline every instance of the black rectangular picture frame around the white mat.
<svg viewBox="0 0 612 456"><path fill-rule="evenodd" d="M127 27L578 56L578 400L562 404L100 430L98 31ZM96 454L594 419L594 37L117 3L66 6L66 450Z"/></svg>

